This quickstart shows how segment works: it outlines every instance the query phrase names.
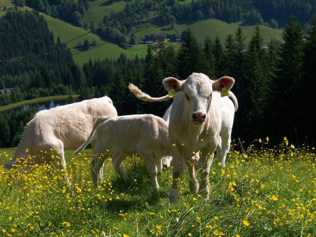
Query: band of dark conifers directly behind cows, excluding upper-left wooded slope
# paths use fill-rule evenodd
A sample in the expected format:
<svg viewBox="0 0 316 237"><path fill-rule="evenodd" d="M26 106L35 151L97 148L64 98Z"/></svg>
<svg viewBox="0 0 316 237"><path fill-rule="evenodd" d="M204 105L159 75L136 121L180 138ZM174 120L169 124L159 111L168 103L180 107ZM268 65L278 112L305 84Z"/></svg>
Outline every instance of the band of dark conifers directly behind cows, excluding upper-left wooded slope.
<svg viewBox="0 0 316 237"><path fill-rule="evenodd" d="M203 72L215 80L227 75L236 80L232 91L239 101L233 138L250 143L269 136L271 144L278 144L286 136L292 142L310 144L315 137L315 130L311 128L315 126L313 115L316 112L312 106L316 98L313 91L316 15L310 24L303 34L300 22L291 16L283 32L283 42L271 39L267 48L258 25L248 41L242 28L238 28L225 42L218 37L206 37L202 44L188 29L183 33L179 49L162 42L157 52L149 46L145 58L128 59L122 54L117 60L90 60L82 67L70 61L56 69L42 66L40 70L21 74L17 70L15 74L1 77L0 84L18 86L21 93L61 85L80 94L81 100L108 95L119 115L153 113L162 116L172 101L140 101L128 91L128 83L155 97L167 93L161 83L165 77L183 80L192 72ZM14 118L10 116L2 117L0 127L11 128L9 121ZM6 136L10 142L16 132ZM10 146L12 143L2 141L1 144Z"/></svg>

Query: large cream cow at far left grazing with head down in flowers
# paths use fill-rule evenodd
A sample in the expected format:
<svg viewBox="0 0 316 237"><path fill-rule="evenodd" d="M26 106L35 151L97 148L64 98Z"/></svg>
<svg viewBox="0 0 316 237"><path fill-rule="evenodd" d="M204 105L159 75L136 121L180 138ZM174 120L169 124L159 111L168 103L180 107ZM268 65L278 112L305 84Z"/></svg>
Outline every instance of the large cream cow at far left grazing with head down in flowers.
<svg viewBox="0 0 316 237"><path fill-rule="evenodd" d="M52 161L50 149L57 149L62 167L66 167L64 149L77 149L90 134L94 121L100 116L117 116L112 100L107 97L83 100L81 102L58 106L50 110L43 110L35 114L26 125L22 139L15 150L13 159L4 165L12 168L17 162L24 162L27 156L32 158L33 164ZM91 142L92 149L95 139Z"/></svg>

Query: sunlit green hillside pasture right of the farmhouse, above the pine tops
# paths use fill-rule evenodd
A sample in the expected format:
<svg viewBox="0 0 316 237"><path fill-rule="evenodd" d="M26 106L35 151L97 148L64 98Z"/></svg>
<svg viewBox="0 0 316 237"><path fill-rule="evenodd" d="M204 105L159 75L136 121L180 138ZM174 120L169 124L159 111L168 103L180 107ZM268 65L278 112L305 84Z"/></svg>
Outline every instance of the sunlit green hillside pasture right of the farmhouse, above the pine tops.
<svg viewBox="0 0 316 237"><path fill-rule="evenodd" d="M223 45L228 34L234 35L238 27L242 27L243 33L247 35L247 42L251 39L251 36L255 31L255 26L242 26L241 22L228 24L224 21L216 19L207 19L203 21L177 24L175 26L175 29L179 34L181 34L184 30L187 30L188 27L191 27L194 37L196 37L197 40L203 42L206 35L209 35L210 38L214 40L216 35L218 35ZM280 30L272 29L266 26L260 26L260 30L261 35L264 38L265 45L267 45L267 43L270 41L272 37L276 37L279 40L282 39L282 31Z"/></svg>

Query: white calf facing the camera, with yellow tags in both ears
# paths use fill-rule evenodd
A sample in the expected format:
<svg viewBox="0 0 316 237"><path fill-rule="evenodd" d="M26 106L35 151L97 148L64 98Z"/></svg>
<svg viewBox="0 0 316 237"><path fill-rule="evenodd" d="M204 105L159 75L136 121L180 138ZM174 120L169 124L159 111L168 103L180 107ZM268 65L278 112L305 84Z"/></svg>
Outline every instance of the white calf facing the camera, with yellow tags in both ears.
<svg viewBox="0 0 316 237"><path fill-rule="evenodd" d="M224 108L222 109L219 92L222 91L223 87L229 90L234 85L234 82L234 78L229 76L212 81L203 73L192 73L184 81L179 81L173 77L165 78L162 81L167 91L174 88L175 92L178 92L177 98L173 100L169 121L169 143L175 144L174 146L171 145L173 184L169 193L170 203L176 203L179 200L179 178L184 172L185 163L190 173L190 191L200 191L205 198L208 198L210 193L209 171L213 161L211 155L220 141L221 156L223 157L223 154L226 156L228 141L230 143L229 131L226 131L227 134L229 133L229 138L227 139L227 137L223 136L225 137L225 142L224 139L220 140L222 124L224 123L228 127L231 127L228 123L232 123L232 119L224 118L224 120L227 120L226 122L222 119ZM152 98L148 94L141 92L134 85L130 86L130 90L137 98L145 101L164 101L170 99L168 95ZM231 97L235 102L235 109L237 109L237 100L234 96ZM227 98L227 100L229 99ZM227 104L229 105L229 103ZM227 106L227 109L229 107ZM233 107L231 109L232 113L228 113L228 115L234 114ZM199 165L201 167L199 169L201 174L200 185L197 183L194 170L194 154L198 151L200 151Z"/></svg>

